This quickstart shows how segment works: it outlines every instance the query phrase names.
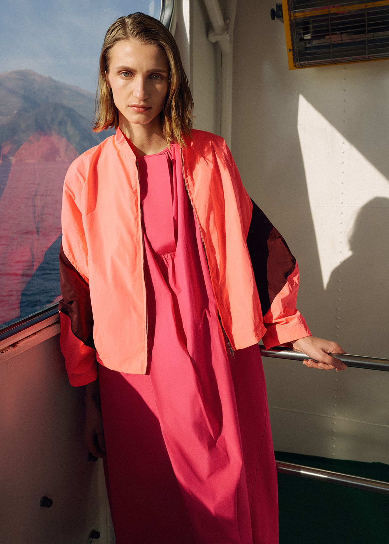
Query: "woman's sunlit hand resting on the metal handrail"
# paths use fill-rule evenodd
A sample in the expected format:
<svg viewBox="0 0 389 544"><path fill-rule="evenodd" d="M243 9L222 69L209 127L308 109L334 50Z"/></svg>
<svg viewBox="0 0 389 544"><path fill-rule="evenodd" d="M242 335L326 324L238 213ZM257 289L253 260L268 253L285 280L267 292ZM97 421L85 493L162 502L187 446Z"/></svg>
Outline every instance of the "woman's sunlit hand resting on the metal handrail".
<svg viewBox="0 0 389 544"><path fill-rule="evenodd" d="M315 336L306 336L291 342L294 349L302 351L312 357L304 359L303 363L310 368L321 368L322 370L331 370L336 368L336 372L339 370L345 370L347 366L339 361L336 357L329 355L330 353L346 353L344 349L340 347L336 342L330 342L323 338L317 338Z"/></svg>

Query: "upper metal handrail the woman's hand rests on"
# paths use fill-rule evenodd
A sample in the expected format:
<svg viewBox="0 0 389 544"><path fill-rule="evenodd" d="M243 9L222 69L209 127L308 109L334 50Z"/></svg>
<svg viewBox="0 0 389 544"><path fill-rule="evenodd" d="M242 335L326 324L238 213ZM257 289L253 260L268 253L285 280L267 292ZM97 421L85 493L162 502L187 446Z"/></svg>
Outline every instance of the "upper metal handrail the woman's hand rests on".
<svg viewBox="0 0 389 544"><path fill-rule="evenodd" d="M277 345L275 348L265 349L263 345L259 345L261 355L263 357L277 357L280 359L291 359L293 361L303 361L309 357L297 351L296 349L287 348L283 345ZM339 361L347 364L348 367L368 368L370 370L389 370L389 359L380 359L378 357L363 357L362 355L349 355L347 353L334 354Z"/></svg>

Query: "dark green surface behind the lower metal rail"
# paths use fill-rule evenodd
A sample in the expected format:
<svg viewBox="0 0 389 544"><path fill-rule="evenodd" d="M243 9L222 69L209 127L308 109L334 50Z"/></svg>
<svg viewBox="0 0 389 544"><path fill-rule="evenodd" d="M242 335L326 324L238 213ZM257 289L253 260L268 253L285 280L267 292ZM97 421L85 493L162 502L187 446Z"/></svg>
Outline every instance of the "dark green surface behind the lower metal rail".
<svg viewBox="0 0 389 544"><path fill-rule="evenodd" d="M384 463L275 452L277 461L389 482ZM389 544L389 496L278 474L279 544Z"/></svg>

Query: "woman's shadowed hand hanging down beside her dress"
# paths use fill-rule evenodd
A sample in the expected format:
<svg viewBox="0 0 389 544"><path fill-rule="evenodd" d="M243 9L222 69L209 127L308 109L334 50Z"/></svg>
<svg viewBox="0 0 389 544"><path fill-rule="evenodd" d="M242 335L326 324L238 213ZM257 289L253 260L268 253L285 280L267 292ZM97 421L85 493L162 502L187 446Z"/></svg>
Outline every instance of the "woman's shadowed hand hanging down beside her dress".
<svg viewBox="0 0 389 544"><path fill-rule="evenodd" d="M98 379L86 386L85 405L85 441L92 455L106 459Z"/></svg>

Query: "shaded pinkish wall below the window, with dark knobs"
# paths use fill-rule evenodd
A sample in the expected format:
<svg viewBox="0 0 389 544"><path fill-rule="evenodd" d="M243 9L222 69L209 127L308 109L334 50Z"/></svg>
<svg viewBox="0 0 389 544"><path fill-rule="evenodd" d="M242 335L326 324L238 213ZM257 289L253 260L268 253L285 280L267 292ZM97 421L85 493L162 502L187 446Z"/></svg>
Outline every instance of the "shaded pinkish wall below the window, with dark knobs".
<svg viewBox="0 0 389 544"><path fill-rule="evenodd" d="M71 387L59 336L0 358L0 543L113 544L102 461L87 461L84 387ZM41 497L51 508L39 505Z"/></svg>

